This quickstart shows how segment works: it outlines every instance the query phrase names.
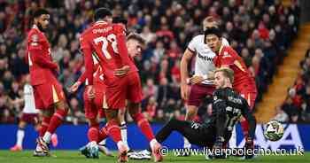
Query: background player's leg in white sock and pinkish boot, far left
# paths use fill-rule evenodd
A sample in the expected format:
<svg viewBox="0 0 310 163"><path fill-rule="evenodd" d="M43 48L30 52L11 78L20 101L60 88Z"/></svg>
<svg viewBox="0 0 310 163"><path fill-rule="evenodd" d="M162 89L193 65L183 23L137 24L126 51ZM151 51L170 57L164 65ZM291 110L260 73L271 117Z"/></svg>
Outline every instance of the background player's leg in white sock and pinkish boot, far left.
<svg viewBox="0 0 310 163"><path fill-rule="evenodd" d="M19 129L16 133L16 144L10 149L11 151L22 151L22 142L25 136L25 127L27 122L23 120L23 117L26 116L24 113L21 120L19 121Z"/></svg>

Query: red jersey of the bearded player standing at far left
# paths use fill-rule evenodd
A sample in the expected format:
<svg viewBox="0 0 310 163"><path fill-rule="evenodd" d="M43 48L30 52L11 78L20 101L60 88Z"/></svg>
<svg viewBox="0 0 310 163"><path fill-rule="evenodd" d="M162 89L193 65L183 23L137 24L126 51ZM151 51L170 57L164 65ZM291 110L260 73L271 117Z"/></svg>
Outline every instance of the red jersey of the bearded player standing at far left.
<svg viewBox="0 0 310 163"><path fill-rule="evenodd" d="M31 85L39 85L56 79L54 71L58 67L50 56L50 43L38 27L34 26L27 36L27 55Z"/></svg>

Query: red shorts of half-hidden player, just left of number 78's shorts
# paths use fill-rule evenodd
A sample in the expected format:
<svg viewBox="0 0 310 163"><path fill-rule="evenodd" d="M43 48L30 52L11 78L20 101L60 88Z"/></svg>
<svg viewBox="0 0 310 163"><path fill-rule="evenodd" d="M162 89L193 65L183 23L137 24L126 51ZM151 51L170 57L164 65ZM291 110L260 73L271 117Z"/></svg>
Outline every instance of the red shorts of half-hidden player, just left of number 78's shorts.
<svg viewBox="0 0 310 163"><path fill-rule="evenodd" d="M105 85L95 83L94 87L95 87L95 99L90 101L86 91L84 91L83 95L85 116L87 119L95 119L97 118L97 115L99 115L99 118L105 117L105 112L103 110Z"/></svg>

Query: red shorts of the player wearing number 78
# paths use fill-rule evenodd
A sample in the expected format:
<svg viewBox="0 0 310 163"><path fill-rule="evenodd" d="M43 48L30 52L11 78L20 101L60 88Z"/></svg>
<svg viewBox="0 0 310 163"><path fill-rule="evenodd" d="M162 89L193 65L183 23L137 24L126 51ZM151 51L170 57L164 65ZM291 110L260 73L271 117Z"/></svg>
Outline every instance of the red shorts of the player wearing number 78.
<svg viewBox="0 0 310 163"><path fill-rule="evenodd" d="M105 80L105 108L124 108L126 99L132 103L140 103L143 99L140 77L137 72L124 77Z"/></svg>

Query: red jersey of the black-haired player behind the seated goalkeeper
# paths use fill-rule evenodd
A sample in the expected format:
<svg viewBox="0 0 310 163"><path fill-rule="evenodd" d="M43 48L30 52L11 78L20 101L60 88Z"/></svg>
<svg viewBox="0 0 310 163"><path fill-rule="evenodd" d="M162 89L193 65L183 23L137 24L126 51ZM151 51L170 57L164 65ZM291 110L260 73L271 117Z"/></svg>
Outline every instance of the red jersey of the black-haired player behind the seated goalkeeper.
<svg viewBox="0 0 310 163"><path fill-rule="evenodd" d="M256 84L250 71L244 64L244 60L238 56L236 50L229 46L221 46L219 54L213 58L213 63L216 67L229 66L234 71L233 88L236 91L241 91L245 85L252 92L256 92Z"/></svg>

